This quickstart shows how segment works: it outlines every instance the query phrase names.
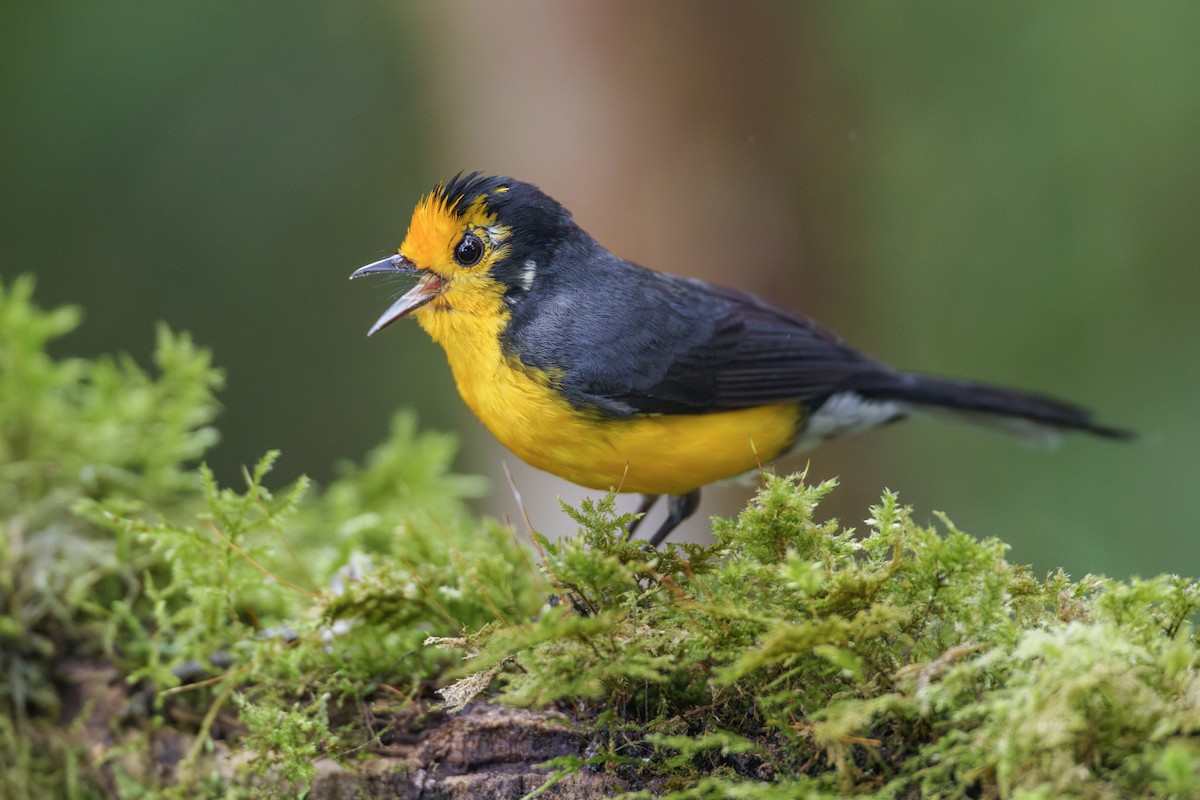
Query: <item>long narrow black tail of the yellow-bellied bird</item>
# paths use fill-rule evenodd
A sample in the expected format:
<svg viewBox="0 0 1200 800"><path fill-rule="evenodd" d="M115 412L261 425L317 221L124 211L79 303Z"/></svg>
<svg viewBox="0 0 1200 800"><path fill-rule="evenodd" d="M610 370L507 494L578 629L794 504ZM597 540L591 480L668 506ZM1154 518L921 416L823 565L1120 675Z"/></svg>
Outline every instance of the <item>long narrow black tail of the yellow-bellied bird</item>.
<svg viewBox="0 0 1200 800"><path fill-rule="evenodd" d="M1110 439L1133 435L1129 431L1098 425L1086 409L1044 395L904 372L864 378L864 385L854 387L864 397L911 403L914 410L954 411L971 422L1010 433L1043 438L1057 431L1086 431Z"/></svg>

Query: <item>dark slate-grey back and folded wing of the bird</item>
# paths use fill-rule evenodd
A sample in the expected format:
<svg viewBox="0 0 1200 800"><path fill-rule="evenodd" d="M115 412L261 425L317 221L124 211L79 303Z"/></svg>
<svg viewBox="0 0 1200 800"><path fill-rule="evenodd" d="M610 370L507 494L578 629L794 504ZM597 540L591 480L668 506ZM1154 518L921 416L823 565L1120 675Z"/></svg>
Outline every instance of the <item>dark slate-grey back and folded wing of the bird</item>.
<svg viewBox="0 0 1200 800"><path fill-rule="evenodd" d="M611 255L569 284L539 275L527 300L506 331L509 351L562 374L575 404L608 415L818 405L856 378L894 374L752 295Z"/></svg>

